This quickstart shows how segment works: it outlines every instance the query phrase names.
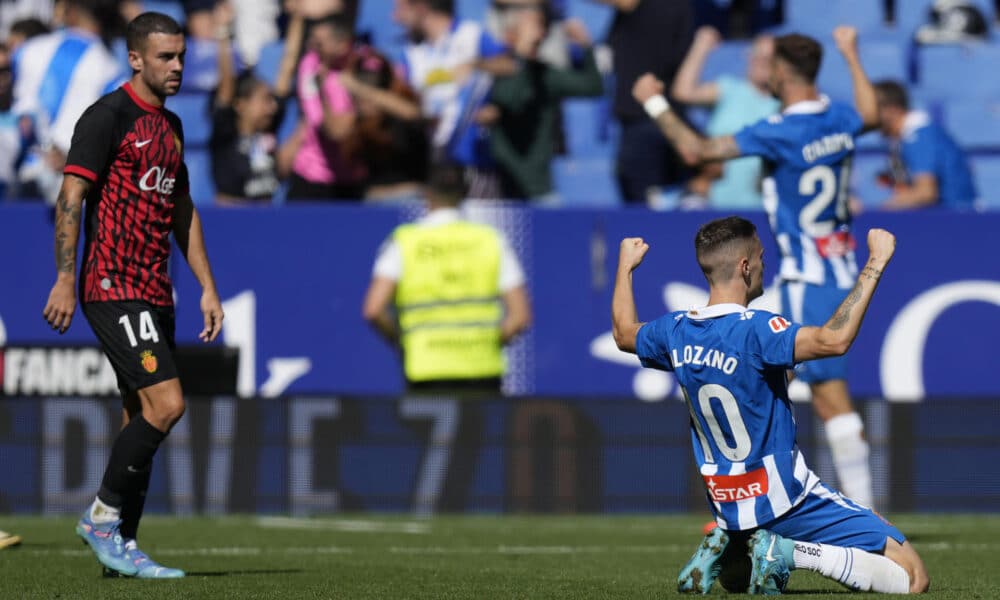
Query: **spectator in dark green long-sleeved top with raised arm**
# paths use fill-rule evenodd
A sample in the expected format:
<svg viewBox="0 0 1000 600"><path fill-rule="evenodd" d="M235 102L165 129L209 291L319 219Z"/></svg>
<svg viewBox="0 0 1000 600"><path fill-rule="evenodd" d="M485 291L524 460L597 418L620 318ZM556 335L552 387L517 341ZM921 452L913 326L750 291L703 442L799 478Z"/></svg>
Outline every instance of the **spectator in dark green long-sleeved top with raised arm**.
<svg viewBox="0 0 1000 600"><path fill-rule="evenodd" d="M573 20L564 25L567 38L584 48L583 66L578 70L556 68L539 60L545 27L545 14L537 6L507 14L506 41L518 59L518 68L493 84L490 106L498 114L490 148L505 198L555 204L558 199L550 167L559 103L570 96L598 96L603 85L583 23Z"/></svg>

